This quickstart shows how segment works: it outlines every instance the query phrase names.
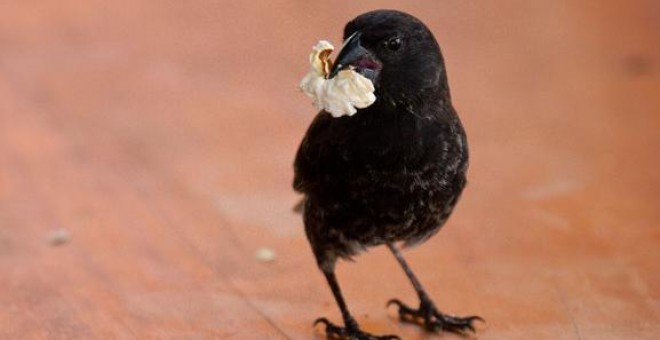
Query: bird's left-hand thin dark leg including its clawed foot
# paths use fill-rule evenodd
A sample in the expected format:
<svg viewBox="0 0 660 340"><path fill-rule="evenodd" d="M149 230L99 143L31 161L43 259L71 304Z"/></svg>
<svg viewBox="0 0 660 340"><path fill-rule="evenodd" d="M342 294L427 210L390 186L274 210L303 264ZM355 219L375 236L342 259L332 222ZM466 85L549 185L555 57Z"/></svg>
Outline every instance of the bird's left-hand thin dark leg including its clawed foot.
<svg viewBox="0 0 660 340"><path fill-rule="evenodd" d="M344 301L344 297L341 294L341 289L339 288L339 284L337 283L337 278L335 277L334 269L329 269L329 270L324 269L323 274L325 274L325 278L328 280L328 285L332 290L332 294L335 296L335 300L337 300L337 305L339 306L339 309L341 310L341 315L344 319L344 327L337 326L331 323L330 321L328 321L328 319L326 318L318 318L316 319L316 321L314 321L314 325L317 325L319 323L325 325L325 333L328 338L350 339L350 340L399 339L399 337L396 335L376 336L361 331L357 322L355 321L355 319L353 319L351 313L349 313L348 307L346 307L346 302Z"/></svg>

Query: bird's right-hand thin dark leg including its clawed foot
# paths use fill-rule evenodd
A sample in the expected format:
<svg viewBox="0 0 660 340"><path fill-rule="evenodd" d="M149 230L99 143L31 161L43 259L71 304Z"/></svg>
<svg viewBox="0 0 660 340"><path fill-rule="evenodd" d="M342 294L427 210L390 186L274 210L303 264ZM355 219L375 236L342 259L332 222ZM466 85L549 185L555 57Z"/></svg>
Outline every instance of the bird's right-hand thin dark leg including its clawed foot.
<svg viewBox="0 0 660 340"><path fill-rule="evenodd" d="M401 255L401 251L399 251L399 249L397 249L392 243L387 243L387 246L390 248L397 261L399 261L401 267L403 267L403 270L410 279L410 283L412 283L419 296L418 309L410 308L397 299L392 299L387 303L388 306L394 304L399 307L399 317L402 321L416 323L424 326L428 331L432 332L436 330L444 330L458 334L464 334L468 330L474 332L473 323L476 320L484 322L484 319L476 315L456 317L441 313L426 294L415 274L413 274L408 263L406 263L406 260Z"/></svg>

